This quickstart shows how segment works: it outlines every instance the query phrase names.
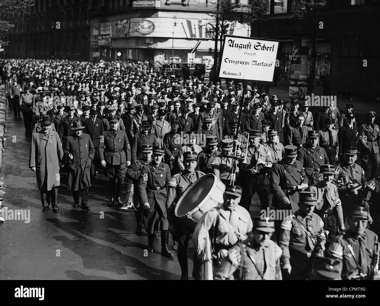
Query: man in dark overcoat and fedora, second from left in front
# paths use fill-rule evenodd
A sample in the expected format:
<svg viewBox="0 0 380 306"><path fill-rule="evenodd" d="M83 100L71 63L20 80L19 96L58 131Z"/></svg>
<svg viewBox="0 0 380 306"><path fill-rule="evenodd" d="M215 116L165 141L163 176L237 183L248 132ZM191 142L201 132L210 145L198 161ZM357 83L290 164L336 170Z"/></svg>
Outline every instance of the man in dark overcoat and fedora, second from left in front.
<svg viewBox="0 0 380 306"><path fill-rule="evenodd" d="M95 149L90 135L82 133L84 128L81 121L74 121L71 127L74 132L63 140L62 148L68 161L67 190L71 190L73 194L73 207L79 206L79 196L81 196L81 207L90 210L87 202L91 187L91 163L94 159Z"/></svg>

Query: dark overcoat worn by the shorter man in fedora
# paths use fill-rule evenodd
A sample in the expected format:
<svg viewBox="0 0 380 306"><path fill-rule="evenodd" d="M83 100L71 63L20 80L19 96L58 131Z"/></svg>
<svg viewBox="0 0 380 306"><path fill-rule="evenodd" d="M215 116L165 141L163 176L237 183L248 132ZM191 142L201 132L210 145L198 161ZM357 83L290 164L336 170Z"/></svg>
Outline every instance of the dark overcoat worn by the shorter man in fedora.
<svg viewBox="0 0 380 306"><path fill-rule="evenodd" d="M73 155L73 162L67 164L67 190L90 188L91 161L95 155L90 135L82 133L78 137L67 136L63 140L63 153L67 160L70 153Z"/></svg>

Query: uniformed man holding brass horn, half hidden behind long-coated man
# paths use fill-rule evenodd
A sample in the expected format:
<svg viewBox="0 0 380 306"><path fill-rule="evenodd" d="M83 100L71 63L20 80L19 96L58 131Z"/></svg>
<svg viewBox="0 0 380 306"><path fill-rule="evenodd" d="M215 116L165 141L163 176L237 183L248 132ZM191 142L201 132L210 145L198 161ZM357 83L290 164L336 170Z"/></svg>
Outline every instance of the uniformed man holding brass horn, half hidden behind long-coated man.
<svg viewBox="0 0 380 306"><path fill-rule="evenodd" d="M141 170L144 166L150 163L152 159L153 145L141 145L141 159L133 162L130 167L127 168L125 176L130 180L133 180L133 204L135 205L135 216L136 216L136 235L143 236L142 233L142 205L139 205L138 197L138 181L140 178Z"/></svg>

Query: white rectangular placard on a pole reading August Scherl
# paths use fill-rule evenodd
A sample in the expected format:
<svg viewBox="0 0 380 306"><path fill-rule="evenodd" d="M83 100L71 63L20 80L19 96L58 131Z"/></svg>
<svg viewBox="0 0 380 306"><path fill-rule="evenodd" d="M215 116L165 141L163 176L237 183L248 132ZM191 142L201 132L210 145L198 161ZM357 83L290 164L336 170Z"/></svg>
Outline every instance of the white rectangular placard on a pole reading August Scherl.
<svg viewBox="0 0 380 306"><path fill-rule="evenodd" d="M272 82L279 41L224 36L219 77Z"/></svg>

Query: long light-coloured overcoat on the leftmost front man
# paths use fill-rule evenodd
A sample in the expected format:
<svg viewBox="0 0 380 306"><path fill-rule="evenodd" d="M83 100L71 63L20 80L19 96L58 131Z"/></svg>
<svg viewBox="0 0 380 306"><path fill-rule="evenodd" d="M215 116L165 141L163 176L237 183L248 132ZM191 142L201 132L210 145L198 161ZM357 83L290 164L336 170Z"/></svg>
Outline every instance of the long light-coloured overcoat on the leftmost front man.
<svg viewBox="0 0 380 306"><path fill-rule="evenodd" d="M36 179L39 190L51 190L59 186L59 162L63 150L58 133L49 130L47 137L34 133L29 154L29 168L36 167Z"/></svg>

